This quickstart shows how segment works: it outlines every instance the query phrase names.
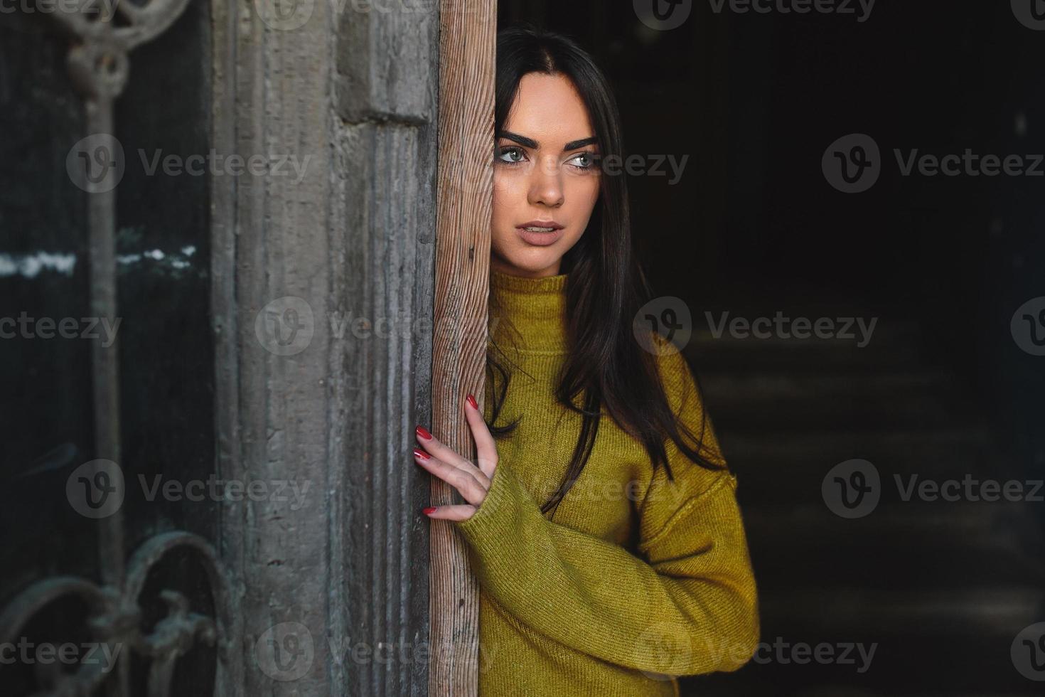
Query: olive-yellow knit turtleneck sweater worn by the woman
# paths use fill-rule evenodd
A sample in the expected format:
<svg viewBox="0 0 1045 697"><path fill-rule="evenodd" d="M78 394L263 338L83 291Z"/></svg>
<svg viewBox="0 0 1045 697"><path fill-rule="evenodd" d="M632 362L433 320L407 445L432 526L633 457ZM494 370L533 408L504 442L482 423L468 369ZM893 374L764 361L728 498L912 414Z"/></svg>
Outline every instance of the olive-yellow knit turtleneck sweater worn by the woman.
<svg viewBox="0 0 1045 697"><path fill-rule="evenodd" d="M479 694L678 695L674 676L736 670L759 641L737 478L692 463L670 439L675 480L663 467L654 474L646 450L603 409L580 477L554 513L541 513L581 424L553 394L567 351L565 283L566 275L490 274L503 306L490 334L521 368L497 424L522 419L497 441L486 498L454 524L481 588ZM699 434L702 408L684 358L657 361L672 409ZM484 406L489 420L489 385ZM704 438L720 456L710 422Z"/></svg>

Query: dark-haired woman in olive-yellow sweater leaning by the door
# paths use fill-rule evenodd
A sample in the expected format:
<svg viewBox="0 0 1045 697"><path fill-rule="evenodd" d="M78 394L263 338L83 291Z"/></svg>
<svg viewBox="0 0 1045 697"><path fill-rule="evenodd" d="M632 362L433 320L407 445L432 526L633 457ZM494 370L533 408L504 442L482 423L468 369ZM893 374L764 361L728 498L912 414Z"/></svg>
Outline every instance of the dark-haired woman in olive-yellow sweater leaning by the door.
<svg viewBox="0 0 1045 697"><path fill-rule="evenodd" d="M599 164L622 153L605 77L568 39L506 29L495 126L478 466L422 426L414 449L468 502L424 512L480 580L480 694L677 695L758 642L737 480L686 361L632 332L650 293Z"/></svg>

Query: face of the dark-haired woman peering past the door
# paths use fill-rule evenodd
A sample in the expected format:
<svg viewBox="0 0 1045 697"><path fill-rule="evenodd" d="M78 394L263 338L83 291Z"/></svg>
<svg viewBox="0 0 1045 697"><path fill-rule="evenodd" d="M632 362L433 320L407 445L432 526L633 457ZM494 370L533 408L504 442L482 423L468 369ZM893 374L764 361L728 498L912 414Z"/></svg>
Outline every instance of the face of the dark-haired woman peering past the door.
<svg viewBox="0 0 1045 697"><path fill-rule="evenodd" d="M554 276L599 199L599 147L587 110L567 77L528 73L495 135L490 266Z"/></svg>

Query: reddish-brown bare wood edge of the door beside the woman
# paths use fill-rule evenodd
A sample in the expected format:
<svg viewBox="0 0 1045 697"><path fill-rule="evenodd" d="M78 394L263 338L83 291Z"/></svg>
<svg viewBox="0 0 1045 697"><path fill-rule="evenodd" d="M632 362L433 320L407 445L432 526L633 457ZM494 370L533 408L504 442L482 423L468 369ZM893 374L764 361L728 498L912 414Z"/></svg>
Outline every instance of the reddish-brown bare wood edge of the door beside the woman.
<svg viewBox="0 0 1045 697"><path fill-rule="evenodd" d="M432 424L437 438L474 460L463 404L468 393L483 399L485 377L496 3L443 0L440 24ZM433 505L461 502L433 478ZM428 694L475 695L479 586L451 522L432 522L431 574Z"/></svg>

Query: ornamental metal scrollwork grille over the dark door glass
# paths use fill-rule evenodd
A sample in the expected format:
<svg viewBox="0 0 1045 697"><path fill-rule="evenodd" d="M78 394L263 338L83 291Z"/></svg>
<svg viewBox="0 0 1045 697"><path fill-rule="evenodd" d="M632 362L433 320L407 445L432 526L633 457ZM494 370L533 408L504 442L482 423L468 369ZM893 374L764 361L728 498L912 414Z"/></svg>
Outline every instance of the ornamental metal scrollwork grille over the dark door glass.
<svg viewBox="0 0 1045 697"><path fill-rule="evenodd" d="M44 0L39 0L43 2ZM75 11L46 13L71 37L68 69L84 98L90 135L113 133L113 102L130 73L130 51L163 33L182 15L189 0L130 0L113 3L111 16L101 13L99 0L80 0ZM116 317L115 190L89 191L89 270L91 308L96 317ZM120 462L119 364L116 345L92 348L95 446L99 458ZM148 660L148 697L168 697L177 661L198 645L217 650L217 671L230 649L229 590L213 548L187 532L169 532L147 540L126 563L122 515L115 512L98 521L101 582L62 576L30 585L0 611L0 642L18 642L32 619L48 606L77 598L88 608L86 630L99 643L125 647ZM173 588L160 591L166 617L144 631L141 595L149 570L173 550L190 550L208 576L214 617L192 611L189 599ZM124 654L125 655L125 654ZM34 697L88 697L130 693L130 660L115 666L80 661L76 670L63 671L53 663L34 665L34 679L42 689ZM220 678L220 675L219 675ZM220 684L218 679L217 683Z"/></svg>

